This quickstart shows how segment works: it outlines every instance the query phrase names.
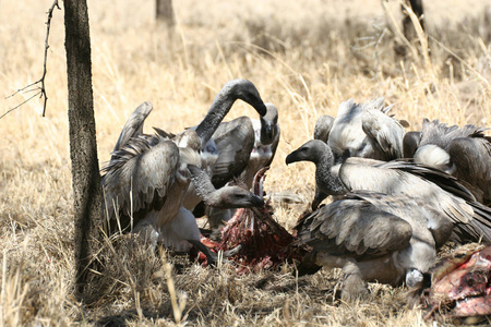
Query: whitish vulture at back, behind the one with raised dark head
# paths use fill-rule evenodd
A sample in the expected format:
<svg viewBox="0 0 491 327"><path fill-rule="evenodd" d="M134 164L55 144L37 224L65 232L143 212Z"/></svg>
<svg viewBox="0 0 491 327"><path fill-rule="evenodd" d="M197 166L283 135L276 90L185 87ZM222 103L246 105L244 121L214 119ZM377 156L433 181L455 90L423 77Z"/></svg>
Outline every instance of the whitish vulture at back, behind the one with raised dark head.
<svg viewBox="0 0 491 327"><path fill-rule="evenodd" d="M387 114L384 98L366 104L349 99L339 105L337 116L321 117L314 130L314 140L326 142L336 162L345 157L363 157L388 161L403 157L402 122ZM327 140L327 141L326 141Z"/></svg>

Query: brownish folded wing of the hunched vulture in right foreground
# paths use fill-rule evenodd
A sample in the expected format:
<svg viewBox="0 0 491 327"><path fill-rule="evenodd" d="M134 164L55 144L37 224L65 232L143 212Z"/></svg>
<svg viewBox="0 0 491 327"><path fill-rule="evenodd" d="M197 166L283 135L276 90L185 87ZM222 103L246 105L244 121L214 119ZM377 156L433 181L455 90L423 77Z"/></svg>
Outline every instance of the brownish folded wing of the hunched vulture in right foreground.
<svg viewBox="0 0 491 327"><path fill-rule="evenodd" d="M336 201L304 218L298 238L315 251L366 261L408 246L411 226L356 198Z"/></svg>

